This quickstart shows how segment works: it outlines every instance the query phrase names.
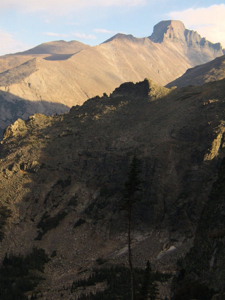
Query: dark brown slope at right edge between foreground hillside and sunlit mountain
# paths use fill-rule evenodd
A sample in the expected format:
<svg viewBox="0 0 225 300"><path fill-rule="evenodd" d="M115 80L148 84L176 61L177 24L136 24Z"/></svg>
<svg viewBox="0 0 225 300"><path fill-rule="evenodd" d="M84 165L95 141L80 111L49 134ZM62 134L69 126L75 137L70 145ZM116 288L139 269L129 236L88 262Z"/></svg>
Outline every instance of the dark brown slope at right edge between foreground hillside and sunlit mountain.
<svg viewBox="0 0 225 300"><path fill-rule="evenodd" d="M215 59L193 68L189 68L179 78L166 84L166 87L171 86L187 86L203 84L209 81L219 80L225 77L225 55L216 57Z"/></svg>

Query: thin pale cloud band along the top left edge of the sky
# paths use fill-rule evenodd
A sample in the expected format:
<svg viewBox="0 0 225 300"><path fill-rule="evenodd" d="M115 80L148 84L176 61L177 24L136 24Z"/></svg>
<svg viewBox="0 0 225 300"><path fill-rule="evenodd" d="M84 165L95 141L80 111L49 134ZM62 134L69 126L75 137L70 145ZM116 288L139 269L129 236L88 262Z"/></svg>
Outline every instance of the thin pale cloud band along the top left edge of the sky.
<svg viewBox="0 0 225 300"><path fill-rule="evenodd" d="M22 11L47 11L66 13L89 6L136 6L146 0L1 0L1 9L20 9Z"/></svg>

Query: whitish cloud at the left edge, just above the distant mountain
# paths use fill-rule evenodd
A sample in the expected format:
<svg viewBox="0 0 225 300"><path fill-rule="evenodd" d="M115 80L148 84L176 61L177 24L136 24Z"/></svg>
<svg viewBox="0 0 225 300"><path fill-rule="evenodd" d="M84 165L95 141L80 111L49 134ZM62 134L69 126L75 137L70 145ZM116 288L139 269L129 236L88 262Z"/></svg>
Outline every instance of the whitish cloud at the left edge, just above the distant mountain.
<svg viewBox="0 0 225 300"><path fill-rule="evenodd" d="M0 29L0 55L15 53L27 50L33 45L24 44L22 41L16 39L13 34Z"/></svg>

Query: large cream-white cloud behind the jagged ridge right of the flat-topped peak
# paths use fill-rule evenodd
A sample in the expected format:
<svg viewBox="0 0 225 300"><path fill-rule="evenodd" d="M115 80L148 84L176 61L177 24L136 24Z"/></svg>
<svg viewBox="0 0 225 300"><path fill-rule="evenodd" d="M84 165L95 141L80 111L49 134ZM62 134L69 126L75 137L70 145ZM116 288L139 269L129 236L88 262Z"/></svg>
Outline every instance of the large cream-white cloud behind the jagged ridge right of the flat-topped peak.
<svg viewBox="0 0 225 300"><path fill-rule="evenodd" d="M168 15L182 21L187 29L193 29L206 39L220 42L225 47L225 4L171 11Z"/></svg>

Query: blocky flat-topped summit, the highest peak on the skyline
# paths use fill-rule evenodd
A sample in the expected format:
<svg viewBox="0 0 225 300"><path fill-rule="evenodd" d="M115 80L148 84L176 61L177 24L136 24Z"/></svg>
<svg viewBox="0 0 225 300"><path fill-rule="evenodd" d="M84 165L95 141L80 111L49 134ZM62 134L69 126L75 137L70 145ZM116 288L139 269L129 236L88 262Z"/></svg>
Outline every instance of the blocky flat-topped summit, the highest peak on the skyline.
<svg viewBox="0 0 225 300"><path fill-rule="evenodd" d="M153 27L153 32L148 38L153 42L162 42L165 38L169 39L182 39L184 37L185 26L178 20L165 20L160 21Z"/></svg>

